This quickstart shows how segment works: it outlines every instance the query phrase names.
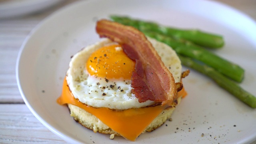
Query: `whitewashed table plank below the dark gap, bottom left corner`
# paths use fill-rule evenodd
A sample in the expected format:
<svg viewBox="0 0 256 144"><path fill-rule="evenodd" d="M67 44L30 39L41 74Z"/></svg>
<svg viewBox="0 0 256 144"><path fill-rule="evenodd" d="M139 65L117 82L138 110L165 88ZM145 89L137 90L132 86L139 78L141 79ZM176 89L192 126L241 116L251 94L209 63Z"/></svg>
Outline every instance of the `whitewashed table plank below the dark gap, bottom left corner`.
<svg viewBox="0 0 256 144"><path fill-rule="evenodd" d="M0 143L66 142L41 124L25 104L0 104Z"/></svg>

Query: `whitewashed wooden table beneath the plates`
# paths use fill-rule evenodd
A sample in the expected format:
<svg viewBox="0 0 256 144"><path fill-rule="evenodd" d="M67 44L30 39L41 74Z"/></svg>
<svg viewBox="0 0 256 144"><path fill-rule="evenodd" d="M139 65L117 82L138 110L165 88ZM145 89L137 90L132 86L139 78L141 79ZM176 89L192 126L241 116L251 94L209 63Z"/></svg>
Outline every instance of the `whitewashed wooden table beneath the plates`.
<svg viewBox="0 0 256 144"><path fill-rule="evenodd" d="M42 125L24 104L16 84L15 66L30 31L52 12L75 1L66 0L41 13L0 20L0 143L66 143ZM256 0L218 1L256 20Z"/></svg>

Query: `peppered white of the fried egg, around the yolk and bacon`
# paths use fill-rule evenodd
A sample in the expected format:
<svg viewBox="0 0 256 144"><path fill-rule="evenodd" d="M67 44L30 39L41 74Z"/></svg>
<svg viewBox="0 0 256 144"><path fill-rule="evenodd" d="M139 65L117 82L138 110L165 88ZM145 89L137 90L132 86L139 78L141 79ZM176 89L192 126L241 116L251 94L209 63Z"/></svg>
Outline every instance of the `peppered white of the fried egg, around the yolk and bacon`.
<svg viewBox="0 0 256 144"><path fill-rule="evenodd" d="M180 82L182 66L176 52L162 42L152 38L148 38L148 40L172 73L175 82ZM114 42L104 38L96 44L83 48L72 57L70 67L66 73L66 80L74 97L80 102L95 108L106 107L115 110L141 108L154 104L150 100L142 103L138 102L138 99L131 93L131 80L106 80L88 74L86 61L90 55L95 50L110 44L114 44Z"/></svg>

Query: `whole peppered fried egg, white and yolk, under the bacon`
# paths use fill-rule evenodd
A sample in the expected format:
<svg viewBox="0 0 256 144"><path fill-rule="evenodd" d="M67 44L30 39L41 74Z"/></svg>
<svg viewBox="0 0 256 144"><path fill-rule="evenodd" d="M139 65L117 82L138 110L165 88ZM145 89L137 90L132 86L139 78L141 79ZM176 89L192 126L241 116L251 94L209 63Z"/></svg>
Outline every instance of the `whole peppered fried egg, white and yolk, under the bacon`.
<svg viewBox="0 0 256 144"><path fill-rule="evenodd" d="M162 42L148 40L175 82L180 82L182 66L176 52ZM66 80L75 98L95 108L125 110L150 106L153 101L140 103L131 93L134 67L135 62L128 58L119 44L104 38L72 56Z"/></svg>

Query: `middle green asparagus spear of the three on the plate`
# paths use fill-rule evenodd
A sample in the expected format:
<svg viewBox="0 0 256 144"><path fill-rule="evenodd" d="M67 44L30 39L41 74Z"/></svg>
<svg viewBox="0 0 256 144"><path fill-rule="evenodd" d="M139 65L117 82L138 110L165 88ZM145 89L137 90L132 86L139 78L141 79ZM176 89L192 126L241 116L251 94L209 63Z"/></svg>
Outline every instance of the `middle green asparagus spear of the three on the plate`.
<svg viewBox="0 0 256 144"><path fill-rule="evenodd" d="M165 36L163 34L158 34L156 32L142 32L144 32L146 36L155 38L160 42L168 44L178 54L199 60L237 82L242 82L243 80L244 70L240 66L229 62L228 60L225 60L224 58L221 58L200 46L187 42L186 40L176 40L174 38Z"/></svg>

